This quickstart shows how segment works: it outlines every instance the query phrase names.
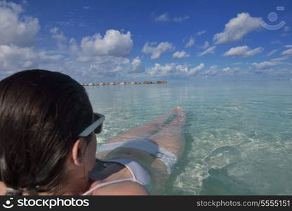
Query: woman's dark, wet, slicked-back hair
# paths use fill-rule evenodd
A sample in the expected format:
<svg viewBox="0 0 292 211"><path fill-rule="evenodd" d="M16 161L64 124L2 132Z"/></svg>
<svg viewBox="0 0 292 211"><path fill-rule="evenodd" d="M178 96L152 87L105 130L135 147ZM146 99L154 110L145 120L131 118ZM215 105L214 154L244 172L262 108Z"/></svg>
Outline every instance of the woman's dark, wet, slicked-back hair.
<svg viewBox="0 0 292 211"><path fill-rule="evenodd" d="M0 177L8 190L60 193L67 155L92 117L84 87L68 75L24 70L1 80Z"/></svg>

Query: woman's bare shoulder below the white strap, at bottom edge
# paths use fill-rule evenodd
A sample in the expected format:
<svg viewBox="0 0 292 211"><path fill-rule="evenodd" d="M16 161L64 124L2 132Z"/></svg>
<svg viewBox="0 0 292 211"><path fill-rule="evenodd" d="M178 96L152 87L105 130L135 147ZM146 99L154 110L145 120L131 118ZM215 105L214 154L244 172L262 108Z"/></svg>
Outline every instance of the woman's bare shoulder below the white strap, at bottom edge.
<svg viewBox="0 0 292 211"><path fill-rule="evenodd" d="M120 181L102 186L95 191L95 196L147 196L148 191L144 186L133 181Z"/></svg>

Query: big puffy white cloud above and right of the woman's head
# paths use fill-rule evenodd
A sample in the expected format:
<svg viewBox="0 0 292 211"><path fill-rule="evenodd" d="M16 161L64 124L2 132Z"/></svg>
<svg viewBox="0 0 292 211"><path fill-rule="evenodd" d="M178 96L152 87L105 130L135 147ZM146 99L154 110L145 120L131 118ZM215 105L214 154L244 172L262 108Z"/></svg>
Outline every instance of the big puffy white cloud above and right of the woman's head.
<svg viewBox="0 0 292 211"><path fill-rule="evenodd" d="M130 56L133 47L131 32L122 34L117 30L107 30L105 36L95 34L81 40L81 49L86 56Z"/></svg>

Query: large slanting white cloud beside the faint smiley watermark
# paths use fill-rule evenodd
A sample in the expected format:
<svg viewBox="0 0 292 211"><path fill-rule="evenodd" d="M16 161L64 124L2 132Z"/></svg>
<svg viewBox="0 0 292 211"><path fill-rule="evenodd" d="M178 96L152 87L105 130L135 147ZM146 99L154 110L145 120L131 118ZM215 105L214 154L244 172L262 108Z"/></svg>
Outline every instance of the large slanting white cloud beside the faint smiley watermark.
<svg viewBox="0 0 292 211"><path fill-rule="evenodd" d="M248 13L239 13L226 25L224 32L215 34L215 44L227 44L241 40L246 34L260 28L260 18L253 18Z"/></svg>

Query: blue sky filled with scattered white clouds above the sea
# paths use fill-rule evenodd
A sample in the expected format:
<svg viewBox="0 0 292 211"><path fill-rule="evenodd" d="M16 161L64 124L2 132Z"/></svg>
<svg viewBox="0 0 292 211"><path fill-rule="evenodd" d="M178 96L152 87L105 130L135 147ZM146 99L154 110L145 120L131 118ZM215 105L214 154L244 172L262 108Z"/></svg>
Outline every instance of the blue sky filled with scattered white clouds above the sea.
<svg viewBox="0 0 292 211"><path fill-rule="evenodd" d="M32 68L79 82L282 78L291 58L290 0L0 0L0 78Z"/></svg>

